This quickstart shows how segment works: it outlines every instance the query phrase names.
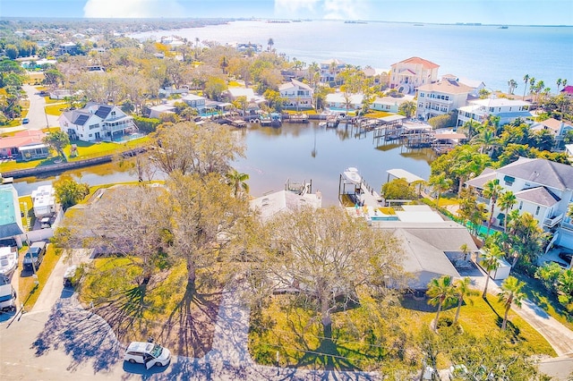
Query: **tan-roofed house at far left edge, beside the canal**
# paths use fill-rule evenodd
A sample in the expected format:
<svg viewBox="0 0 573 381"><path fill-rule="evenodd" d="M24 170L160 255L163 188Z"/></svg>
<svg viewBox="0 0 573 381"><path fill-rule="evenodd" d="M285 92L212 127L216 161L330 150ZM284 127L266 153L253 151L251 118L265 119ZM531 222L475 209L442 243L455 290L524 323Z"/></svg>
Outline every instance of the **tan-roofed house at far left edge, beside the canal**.
<svg viewBox="0 0 573 381"><path fill-rule="evenodd" d="M49 147L43 142L45 136L42 131L25 130L0 138L0 157L24 161L48 157Z"/></svg>

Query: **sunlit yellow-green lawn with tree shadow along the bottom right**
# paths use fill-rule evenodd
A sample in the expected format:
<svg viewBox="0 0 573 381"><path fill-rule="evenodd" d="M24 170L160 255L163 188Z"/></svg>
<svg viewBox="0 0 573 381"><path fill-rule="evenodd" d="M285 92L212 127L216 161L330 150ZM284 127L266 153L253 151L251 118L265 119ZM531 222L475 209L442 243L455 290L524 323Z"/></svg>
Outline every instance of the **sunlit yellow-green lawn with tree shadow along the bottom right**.
<svg viewBox="0 0 573 381"><path fill-rule="evenodd" d="M341 370L398 366L415 370L419 362L411 357L419 347L416 337L435 318L435 308L426 301L404 298L401 303L381 306L363 300L358 308L334 314L330 341L325 340L328 337L309 310L286 307L286 298L275 296L268 308L252 311L250 351L262 364L274 365L278 356L282 366ZM462 307L459 323L467 334L483 338L500 332L503 312L503 306L492 297L489 303L475 297L473 304ZM455 314L455 308L446 309L440 321L453 319ZM555 356L543 336L513 311L509 311L508 333L509 345L519 351ZM438 368L449 365L445 358L439 358Z"/></svg>

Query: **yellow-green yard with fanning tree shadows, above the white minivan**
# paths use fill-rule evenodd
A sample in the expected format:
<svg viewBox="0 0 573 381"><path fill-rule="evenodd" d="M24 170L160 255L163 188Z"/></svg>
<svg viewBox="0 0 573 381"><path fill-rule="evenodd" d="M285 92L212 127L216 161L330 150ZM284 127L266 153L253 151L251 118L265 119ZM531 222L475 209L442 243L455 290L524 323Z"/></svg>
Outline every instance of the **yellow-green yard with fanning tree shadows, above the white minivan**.
<svg viewBox="0 0 573 381"><path fill-rule="evenodd" d="M141 267L132 258L97 258L79 286L80 300L93 303L123 343L154 337L179 355L201 358L210 351L221 284L201 271L197 291L187 287L183 262L142 282Z"/></svg>

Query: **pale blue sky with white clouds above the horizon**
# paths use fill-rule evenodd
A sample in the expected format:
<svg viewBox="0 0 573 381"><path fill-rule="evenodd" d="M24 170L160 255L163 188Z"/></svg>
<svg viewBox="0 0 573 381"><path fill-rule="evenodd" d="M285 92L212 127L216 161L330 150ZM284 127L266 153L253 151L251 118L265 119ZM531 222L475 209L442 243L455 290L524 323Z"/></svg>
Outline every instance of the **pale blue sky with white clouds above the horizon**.
<svg viewBox="0 0 573 381"><path fill-rule="evenodd" d="M284 18L573 25L572 0L1 0L2 17Z"/></svg>

